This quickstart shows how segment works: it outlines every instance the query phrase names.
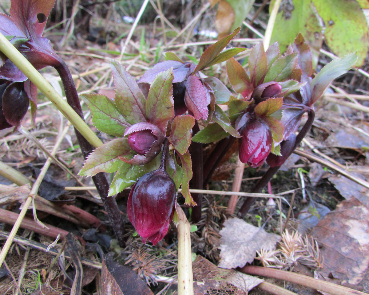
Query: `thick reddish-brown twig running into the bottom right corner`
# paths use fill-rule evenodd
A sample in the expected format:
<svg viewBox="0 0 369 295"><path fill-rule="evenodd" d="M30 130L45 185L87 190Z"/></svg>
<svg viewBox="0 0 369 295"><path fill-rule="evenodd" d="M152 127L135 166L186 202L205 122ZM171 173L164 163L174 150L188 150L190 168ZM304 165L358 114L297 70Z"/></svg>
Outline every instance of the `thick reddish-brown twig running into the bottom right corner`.
<svg viewBox="0 0 369 295"><path fill-rule="evenodd" d="M276 270L269 267L245 266L240 269L242 273L262 275L263 277L277 278L279 280L289 281L300 284L315 290L328 292L335 295L368 295L366 293L346 288L331 282L318 280L303 274L296 274L285 270Z"/></svg>

